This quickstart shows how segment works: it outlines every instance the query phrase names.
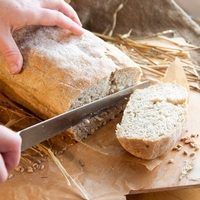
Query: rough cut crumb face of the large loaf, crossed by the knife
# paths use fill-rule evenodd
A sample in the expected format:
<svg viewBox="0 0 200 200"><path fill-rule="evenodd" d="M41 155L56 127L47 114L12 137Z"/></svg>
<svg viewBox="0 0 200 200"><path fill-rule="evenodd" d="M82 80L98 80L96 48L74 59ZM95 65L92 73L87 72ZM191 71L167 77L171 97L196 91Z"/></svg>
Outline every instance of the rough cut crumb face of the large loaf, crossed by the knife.
<svg viewBox="0 0 200 200"><path fill-rule="evenodd" d="M141 75L141 70L138 67L117 70L111 74L110 79L103 79L95 86L81 93L79 98L74 101L71 109L135 85L139 82ZM83 120L81 123L71 128L70 131L77 139L85 139L88 135L93 134L108 121L114 119L123 112L126 103L126 100L122 100L114 107L102 113L98 113L97 116Z"/></svg>

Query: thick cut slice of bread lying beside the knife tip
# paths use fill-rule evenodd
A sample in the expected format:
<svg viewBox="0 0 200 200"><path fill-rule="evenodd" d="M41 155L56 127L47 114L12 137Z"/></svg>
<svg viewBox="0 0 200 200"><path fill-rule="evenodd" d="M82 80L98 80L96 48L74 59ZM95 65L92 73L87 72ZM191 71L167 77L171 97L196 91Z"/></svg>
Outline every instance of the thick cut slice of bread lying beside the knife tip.
<svg viewBox="0 0 200 200"><path fill-rule="evenodd" d="M116 135L131 154L154 159L168 152L181 136L188 93L182 86L159 83L130 97Z"/></svg>

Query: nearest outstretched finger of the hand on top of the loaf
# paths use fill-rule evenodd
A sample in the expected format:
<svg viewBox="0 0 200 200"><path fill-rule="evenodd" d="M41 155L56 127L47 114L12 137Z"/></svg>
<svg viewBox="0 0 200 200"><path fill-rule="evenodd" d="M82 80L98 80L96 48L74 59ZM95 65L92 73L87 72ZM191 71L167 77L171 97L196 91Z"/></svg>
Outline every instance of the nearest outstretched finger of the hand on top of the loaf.
<svg viewBox="0 0 200 200"><path fill-rule="evenodd" d="M43 26L58 26L60 28L70 30L75 35L81 35L84 32L84 29L81 26L66 17L63 13L56 10L41 9L40 15L34 21L34 24L40 24Z"/></svg>

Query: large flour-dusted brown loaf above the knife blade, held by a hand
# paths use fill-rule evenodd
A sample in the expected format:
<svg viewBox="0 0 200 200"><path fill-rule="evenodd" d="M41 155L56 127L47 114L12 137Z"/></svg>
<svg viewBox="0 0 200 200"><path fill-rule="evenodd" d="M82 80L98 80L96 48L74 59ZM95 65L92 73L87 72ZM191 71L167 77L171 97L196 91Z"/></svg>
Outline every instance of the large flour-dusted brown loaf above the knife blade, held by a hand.
<svg viewBox="0 0 200 200"><path fill-rule="evenodd" d="M43 119L134 85L141 77L136 63L89 31L77 37L54 27L30 28L17 32L15 40L23 71L10 75L1 58L0 90Z"/></svg>

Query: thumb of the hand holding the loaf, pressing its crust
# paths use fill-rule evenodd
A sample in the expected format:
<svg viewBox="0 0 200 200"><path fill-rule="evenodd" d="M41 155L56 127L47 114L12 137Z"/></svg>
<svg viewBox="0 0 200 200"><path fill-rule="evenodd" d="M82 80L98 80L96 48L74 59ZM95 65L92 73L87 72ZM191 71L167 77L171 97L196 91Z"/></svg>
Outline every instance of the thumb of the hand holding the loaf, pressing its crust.
<svg viewBox="0 0 200 200"><path fill-rule="evenodd" d="M6 60L11 74L21 71L23 58L10 31L0 33L0 53Z"/></svg>

